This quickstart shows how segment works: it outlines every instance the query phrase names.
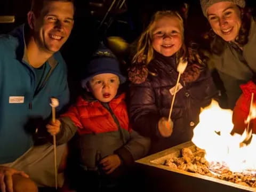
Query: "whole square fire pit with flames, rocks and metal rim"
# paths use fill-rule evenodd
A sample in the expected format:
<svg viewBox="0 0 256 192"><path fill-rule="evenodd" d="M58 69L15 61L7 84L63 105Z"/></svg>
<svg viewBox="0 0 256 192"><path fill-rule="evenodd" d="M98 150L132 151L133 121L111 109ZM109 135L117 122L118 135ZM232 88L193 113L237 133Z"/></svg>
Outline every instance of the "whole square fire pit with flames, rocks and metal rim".
<svg viewBox="0 0 256 192"><path fill-rule="evenodd" d="M252 106L251 111L255 109ZM256 191L255 135L244 145L246 130L242 135L230 134L232 111L221 109L216 101L203 109L199 118L192 141L139 159L137 163L142 167L147 165L145 170L152 177L163 175L157 186L166 190ZM253 118L250 113L246 120L250 122Z"/></svg>

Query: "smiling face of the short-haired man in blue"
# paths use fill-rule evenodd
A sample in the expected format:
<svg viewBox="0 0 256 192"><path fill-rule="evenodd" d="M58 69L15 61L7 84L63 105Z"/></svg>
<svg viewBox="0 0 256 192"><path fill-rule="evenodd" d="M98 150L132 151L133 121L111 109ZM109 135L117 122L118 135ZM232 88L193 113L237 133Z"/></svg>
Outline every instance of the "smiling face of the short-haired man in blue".
<svg viewBox="0 0 256 192"><path fill-rule="evenodd" d="M54 53L67 41L74 24L71 2L45 2L38 17L34 14L34 38L40 50Z"/></svg>

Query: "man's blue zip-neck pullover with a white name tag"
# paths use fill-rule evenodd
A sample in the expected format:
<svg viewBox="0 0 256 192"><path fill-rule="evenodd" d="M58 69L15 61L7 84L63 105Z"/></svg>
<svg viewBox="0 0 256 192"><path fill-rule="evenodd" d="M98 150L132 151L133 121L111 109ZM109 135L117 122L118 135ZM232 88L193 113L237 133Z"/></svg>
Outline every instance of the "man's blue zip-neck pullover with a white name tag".
<svg viewBox="0 0 256 192"><path fill-rule="evenodd" d="M38 71L28 63L24 28L0 35L0 164L15 161L33 146L26 124L51 115L51 97L59 99L57 110L69 101L67 67L60 52L45 62L47 71L37 79Z"/></svg>

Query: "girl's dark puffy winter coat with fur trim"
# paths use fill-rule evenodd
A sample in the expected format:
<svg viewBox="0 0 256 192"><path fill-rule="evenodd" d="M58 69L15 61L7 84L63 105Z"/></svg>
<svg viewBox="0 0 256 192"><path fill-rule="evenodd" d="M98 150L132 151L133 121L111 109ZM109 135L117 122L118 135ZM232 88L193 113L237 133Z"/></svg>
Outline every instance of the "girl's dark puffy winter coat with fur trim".
<svg viewBox="0 0 256 192"><path fill-rule="evenodd" d="M169 90L175 86L178 78L176 59L174 56L156 54L148 64L148 70L145 82L131 84L129 110L133 129L152 139L150 153L156 153L191 140L193 129L199 122L201 107L210 104L216 89L206 68L194 82L185 83L181 79L183 88L176 94L171 115L173 133L169 138L163 138L158 132L157 123L161 117L169 116L173 98Z"/></svg>

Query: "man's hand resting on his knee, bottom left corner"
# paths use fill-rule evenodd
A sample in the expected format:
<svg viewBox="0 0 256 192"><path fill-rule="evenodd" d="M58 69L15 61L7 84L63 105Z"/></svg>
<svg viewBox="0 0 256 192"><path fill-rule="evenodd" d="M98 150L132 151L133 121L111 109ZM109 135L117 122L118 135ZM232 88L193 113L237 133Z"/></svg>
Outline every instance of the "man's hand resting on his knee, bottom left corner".
<svg viewBox="0 0 256 192"><path fill-rule="evenodd" d="M0 166L0 189L2 192L13 192L12 175L19 174L28 178L23 171L18 171L6 166Z"/></svg>

